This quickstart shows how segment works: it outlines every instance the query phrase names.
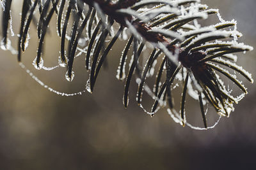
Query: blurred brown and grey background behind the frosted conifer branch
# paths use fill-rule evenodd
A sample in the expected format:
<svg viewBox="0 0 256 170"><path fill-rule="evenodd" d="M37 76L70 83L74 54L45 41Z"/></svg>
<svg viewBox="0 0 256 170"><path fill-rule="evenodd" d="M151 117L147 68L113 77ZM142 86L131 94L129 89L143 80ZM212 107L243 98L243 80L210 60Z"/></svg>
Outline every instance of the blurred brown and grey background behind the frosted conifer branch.
<svg viewBox="0 0 256 170"><path fill-rule="evenodd" d="M12 16L13 29L18 32L21 2L16 3L19 9L13 9ZM219 8L225 20L235 18L243 32L239 41L256 46L255 0L202 3ZM207 24L214 23L209 19ZM60 55L56 21L52 25L53 31L45 38L46 66L56 66ZM72 82L65 80L65 68L35 70L31 66L38 45L34 25L30 36L22 62L40 80L61 92L85 88L88 73L83 57L76 60ZM16 46L17 39L11 39ZM16 55L1 50L0 169L255 169L255 83L244 81L249 94L235 106L230 118L222 118L214 129L195 131L173 122L166 109L152 118L145 114L135 102L134 80L129 106L124 108L124 82L115 78L120 50L115 46L111 51L108 69L100 71L93 94L73 97L58 96L41 87L19 66ZM254 79L255 53L239 53L237 61ZM202 127L199 104L188 99L186 108L188 120ZM210 111L209 124L217 119Z"/></svg>

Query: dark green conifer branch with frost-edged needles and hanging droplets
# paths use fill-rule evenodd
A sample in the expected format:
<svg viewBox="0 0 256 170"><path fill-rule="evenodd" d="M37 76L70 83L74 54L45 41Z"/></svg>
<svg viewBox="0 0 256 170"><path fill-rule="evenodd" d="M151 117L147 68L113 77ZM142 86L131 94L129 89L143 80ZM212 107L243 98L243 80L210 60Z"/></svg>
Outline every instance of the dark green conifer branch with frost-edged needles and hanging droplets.
<svg viewBox="0 0 256 170"><path fill-rule="evenodd" d="M4 1L1 46L5 50L11 50L8 44L11 6L11 0ZM44 2L24 0L20 20L18 60L21 60L22 52L26 50L29 27L31 21L36 20L33 14L38 11L40 18L36 22L39 45L38 55L33 64L36 69L44 69L44 39L49 22L56 13L57 31L61 39L59 64L61 67L67 67L65 76L68 81L72 81L74 60L77 55L84 53L85 67L90 71L87 90L93 92L97 76L108 58L109 51L116 45L120 35L128 32L129 40L120 55L120 66L116 75L119 80L126 78L125 108L129 104L132 76L136 76L138 104L143 108L144 91L154 99L148 114L154 115L159 108L168 103L170 109L168 113L175 115L172 117L176 117L182 125L185 125L187 124L186 94L196 94L191 97L198 100L204 127L207 129L204 111L206 103L210 103L219 115L228 117L230 112L234 111L234 104L247 93L243 83L221 66L229 67L253 83L252 75L243 67L237 66L236 56L232 54L253 50L252 46L237 43L241 33L236 30L235 20L227 22L221 18L218 10L207 8L206 5L200 4L200 0L47 0ZM201 27L198 20L205 20L209 15L218 16L220 23ZM72 17L74 20L71 19ZM71 32L68 32L68 24L72 27ZM118 25L118 30L115 29L115 25ZM82 39L85 39L83 41L86 41L87 46L79 45ZM108 45L106 39L110 39ZM132 59L128 74L125 76L130 48L133 52ZM140 60L144 48L151 50L151 53L147 56L147 62L142 69ZM157 74L154 74L157 60L160 60L161 64ZM241 96L233 97L225 88L218 73L233 81L241 89ZM148 77L156 79L153 89L147 85ZM175 97L172 96L172 91L175 88L174 82L179 78L183 90L180 111L175 111L173 102Z"/></svg>

